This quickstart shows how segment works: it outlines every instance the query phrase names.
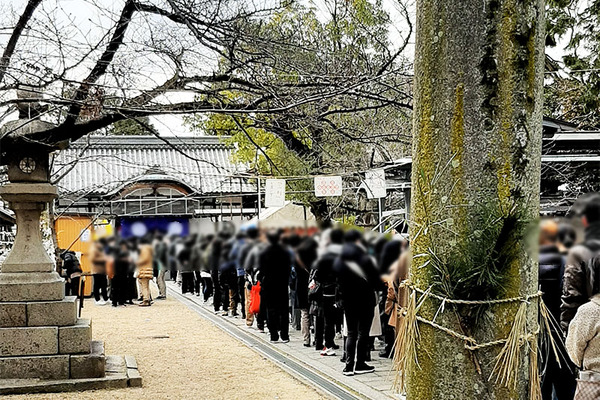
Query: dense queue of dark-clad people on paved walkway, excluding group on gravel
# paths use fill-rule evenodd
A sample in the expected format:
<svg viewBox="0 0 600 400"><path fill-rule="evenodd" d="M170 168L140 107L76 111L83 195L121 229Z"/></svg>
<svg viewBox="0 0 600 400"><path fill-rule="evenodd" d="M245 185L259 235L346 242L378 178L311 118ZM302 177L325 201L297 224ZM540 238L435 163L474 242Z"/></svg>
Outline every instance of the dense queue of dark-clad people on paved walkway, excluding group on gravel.
<svg viewBox="0 0 600 400"><path fill-rule="evenodd" d="M342 345L343 373L354 375L374 370L367 362L375 337L385 343L379 356L391 355L394 307L386 307L386 285L406 247L398 238L366 240L357 230L308 236L248 227L235 235L172 238L166 253L169 276L183 294L212 300L215 313L243 318L273 343L289 342L292 328L322 356L335 356Z"/></svg>

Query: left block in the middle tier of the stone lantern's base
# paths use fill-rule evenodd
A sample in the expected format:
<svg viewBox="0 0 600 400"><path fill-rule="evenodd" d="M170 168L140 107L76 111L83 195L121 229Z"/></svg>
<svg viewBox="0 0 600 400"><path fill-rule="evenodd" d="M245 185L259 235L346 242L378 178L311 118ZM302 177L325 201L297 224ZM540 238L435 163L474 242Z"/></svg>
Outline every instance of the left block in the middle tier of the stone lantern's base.
<svg viewBox="0 0 600 400"><path fill-rule="evenodd" d="M58 354L58 327L0 328L0 357Z"/></svg>

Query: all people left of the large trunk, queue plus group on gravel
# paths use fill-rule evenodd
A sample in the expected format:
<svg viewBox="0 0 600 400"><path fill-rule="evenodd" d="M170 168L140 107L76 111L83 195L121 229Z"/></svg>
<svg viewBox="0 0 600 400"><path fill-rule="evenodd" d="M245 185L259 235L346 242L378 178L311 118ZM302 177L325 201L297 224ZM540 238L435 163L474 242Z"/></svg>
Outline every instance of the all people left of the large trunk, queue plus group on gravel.
<svg viewBox="0 0 600 400"><path fill-rule="evenodd" d="M358 230L327 227L309 236L250 226L236 234L101 239L88 257L97 305L119 307L137 299L150 306L166 298L165 280L171 279L215 313L268 332L273 343L289 342L291 328L322 356L335 356L342 346L343 373L354 375L374 370L367 362L375 337L385 343L379 356L391 356L390 314L396 308L395 297L388 296L390 271L406 248L400 238L365 238ZM72 251L63 251L61 259L67 293L78 295L79 260ZM153 279L156 299L149 290Z"/></svg>

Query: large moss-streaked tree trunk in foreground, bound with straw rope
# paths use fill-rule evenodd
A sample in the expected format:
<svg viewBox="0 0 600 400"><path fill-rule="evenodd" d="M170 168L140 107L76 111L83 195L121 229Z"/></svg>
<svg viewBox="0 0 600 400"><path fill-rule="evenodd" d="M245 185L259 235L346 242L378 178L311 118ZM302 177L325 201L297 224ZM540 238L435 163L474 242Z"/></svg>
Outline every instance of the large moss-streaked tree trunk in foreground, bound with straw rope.
<svg viewBox="0 0 600 400"><path fill-rule="evenodd" d="M412 281L459 299L535 293L527 246L539 210L543 0L418 0L412 170ZM485 343L506 338L519 303L449 306L418 315ZM537 327L535 304L528 329ZM419 323L408 399L526 399L524 346L516 387L489 380L501 346Z"/></svg>

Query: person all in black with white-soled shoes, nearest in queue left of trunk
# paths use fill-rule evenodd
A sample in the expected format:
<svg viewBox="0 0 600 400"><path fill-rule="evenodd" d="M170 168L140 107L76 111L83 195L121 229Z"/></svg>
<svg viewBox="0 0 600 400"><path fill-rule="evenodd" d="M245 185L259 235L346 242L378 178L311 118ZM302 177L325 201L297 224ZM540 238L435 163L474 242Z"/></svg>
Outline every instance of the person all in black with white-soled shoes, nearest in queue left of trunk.
<svg viewBox="0 0 600 400"><path fill-rule="evenodd" d="M384 285L373 259L362 244L362 234L356 230L346 233L341 256L334 269L338 277L348 338L346 340L346 367L343 374L351 376L373 372L365 362L369 349L369 331L377 296Z"/></svg>

